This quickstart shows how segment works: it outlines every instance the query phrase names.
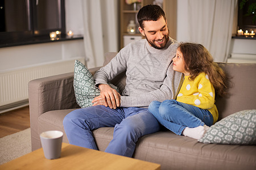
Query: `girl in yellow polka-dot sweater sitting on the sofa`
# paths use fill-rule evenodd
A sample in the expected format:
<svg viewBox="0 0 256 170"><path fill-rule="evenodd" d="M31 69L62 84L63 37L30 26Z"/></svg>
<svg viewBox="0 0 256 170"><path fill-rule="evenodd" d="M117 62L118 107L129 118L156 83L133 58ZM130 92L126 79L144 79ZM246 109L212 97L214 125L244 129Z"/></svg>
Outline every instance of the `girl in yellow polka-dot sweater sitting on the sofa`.
<svg viewBox="0 0 256 170"><path fill-rule="evenodd" d="M201 44L181 43L172 61L184 74L177 100L152 101L148 111L175 134L200 139L218 119L215 90L226 94L226 75Z"/></svg>

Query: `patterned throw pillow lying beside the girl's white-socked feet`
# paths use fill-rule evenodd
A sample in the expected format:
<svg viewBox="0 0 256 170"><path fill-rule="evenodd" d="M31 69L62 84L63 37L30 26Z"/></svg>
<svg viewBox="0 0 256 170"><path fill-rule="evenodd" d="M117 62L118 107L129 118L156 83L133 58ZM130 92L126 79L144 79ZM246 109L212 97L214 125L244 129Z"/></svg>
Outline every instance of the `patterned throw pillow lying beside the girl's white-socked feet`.
<svg viewBox="0 0 256 170"><path fill-rule="evenodd" d="M203 143L220 143L231 145L256 144L256 110L246 110L231 114L210 126Z"/></svg>

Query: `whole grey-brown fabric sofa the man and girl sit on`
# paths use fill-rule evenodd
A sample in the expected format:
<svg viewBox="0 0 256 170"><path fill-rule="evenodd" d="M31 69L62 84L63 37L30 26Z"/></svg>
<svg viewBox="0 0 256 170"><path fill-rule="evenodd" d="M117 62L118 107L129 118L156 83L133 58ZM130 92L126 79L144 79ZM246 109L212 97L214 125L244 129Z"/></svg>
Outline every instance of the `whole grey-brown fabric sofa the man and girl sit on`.
<svg viewBox="0 0 256 170"><path fill-rule="evenodd" d="M105 62L115 56L105 54ZM216 99L218 121L229 115L256 109L256 64L218 63L230 76L229 95ZM94 74L100 67L89 69ZM112 80L122 91L125 73ZM63 142L68 143L63 118L80 108L73 89L73 73L31 80L28 83L32 151L41 147L39 134L47 130L63 131ZM93 131L98 149L104 151L113 138L114 128ZM158 163L161 169L256 169L255 145L205 144L196 139L162 130L139 138L133 158Z"/></svg>

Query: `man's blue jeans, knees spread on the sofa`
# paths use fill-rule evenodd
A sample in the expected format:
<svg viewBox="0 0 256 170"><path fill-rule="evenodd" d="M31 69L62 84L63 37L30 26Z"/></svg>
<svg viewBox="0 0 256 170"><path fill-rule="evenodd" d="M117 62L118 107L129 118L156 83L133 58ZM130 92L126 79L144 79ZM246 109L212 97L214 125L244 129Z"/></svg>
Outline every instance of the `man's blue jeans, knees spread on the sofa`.
<svg viewBox="0 0 256 170"><path fill-rule="evenodd" d="M105 152L133 156L136 142L143 135L160 130L156 118L143 108L110 109L102 105L77 109L63 120L64 130L72 145L97 150L92 130L114 127L113 139Z"/></svg>

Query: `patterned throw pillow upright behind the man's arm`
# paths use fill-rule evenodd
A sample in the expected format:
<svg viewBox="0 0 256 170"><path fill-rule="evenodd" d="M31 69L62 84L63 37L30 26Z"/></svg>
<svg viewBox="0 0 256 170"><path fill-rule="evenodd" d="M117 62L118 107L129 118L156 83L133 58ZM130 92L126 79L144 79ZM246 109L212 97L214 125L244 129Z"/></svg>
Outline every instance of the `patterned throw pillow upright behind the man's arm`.
<svg viewBox="0 0 256 170"><path fill-rule="evenodd" d="M85 67L83 63L76 60L74 69L74 90L76 96L76 102L81 108L92 106L92 100L94 97L100 95L100 90L96 88L93 80L93 76L90 71ZM119 92L118 88L113 84L109 84Z"/></svg>

